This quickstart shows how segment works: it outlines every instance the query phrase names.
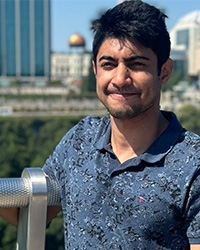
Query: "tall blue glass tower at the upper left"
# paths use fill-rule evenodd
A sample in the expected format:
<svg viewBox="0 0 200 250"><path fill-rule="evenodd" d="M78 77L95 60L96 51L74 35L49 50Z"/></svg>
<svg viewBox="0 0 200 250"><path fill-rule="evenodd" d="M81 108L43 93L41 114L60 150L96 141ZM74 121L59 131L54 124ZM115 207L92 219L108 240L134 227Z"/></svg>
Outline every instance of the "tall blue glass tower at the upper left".
<svg viewBox="0 0 200 250"><path fill-rule="evenodd" d="M50 77L50 0L0 1L0 84Z"/></svg>

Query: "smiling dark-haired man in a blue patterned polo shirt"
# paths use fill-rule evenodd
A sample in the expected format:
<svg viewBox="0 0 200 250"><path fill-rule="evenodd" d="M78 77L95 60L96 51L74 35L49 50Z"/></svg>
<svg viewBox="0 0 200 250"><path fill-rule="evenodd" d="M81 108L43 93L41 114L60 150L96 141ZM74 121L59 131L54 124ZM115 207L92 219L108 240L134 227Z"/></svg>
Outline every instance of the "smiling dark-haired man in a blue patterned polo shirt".
<svg viewBox="0 0 200 250"><path fill-rule="evenodd" d="M65 249L200 249L200 138L159 109L173 69L165 17L133 0L93 22L110 115L80 121L43 168L61 187Z"/></svg>

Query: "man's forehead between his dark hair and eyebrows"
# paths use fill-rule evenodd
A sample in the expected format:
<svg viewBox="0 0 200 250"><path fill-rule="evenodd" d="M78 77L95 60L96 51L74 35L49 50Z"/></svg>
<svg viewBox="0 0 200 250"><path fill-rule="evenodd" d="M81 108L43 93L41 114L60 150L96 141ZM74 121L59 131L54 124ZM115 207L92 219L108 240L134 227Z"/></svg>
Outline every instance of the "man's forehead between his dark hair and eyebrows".
<svg viewBox="0 0 200 250"><path fill-rule="evenodd" d="M115 55L115 56L156 56L154 52L141 45L135 40L119 40L117 38L108 38L105 39L98 51L97 58L103 56L103 55Z"/></svg>

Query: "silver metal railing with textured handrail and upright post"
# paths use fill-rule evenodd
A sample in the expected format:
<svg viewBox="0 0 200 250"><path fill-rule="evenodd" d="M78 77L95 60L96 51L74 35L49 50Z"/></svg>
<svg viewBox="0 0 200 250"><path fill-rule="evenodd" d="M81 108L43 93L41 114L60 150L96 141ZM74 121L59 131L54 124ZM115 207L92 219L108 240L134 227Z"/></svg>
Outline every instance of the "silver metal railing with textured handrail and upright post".
<svg viewBox="0 0 200 250"><path fill-rule="evenodd" d="M0 207L19 207L17 250L44 250L47 206L60 205L60 189L40 168L26 168L21 178L0 178Z"/></svg>

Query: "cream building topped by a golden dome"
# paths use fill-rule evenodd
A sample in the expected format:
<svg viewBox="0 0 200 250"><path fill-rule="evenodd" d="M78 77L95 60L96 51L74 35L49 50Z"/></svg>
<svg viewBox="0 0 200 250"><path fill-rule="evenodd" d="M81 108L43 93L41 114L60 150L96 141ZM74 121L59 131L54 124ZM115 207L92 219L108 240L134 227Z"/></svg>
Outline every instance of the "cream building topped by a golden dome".
<svg viewBox="0 0 200 250"><path fill-rule="evenodd" d="M88 76L91 66L91 53L85 50L85 39L73 34L68 41L68 53L52 53L51 80L61 80L65 85L80 85L83 77Z"/></svg>

